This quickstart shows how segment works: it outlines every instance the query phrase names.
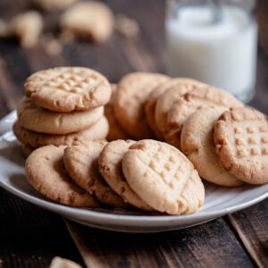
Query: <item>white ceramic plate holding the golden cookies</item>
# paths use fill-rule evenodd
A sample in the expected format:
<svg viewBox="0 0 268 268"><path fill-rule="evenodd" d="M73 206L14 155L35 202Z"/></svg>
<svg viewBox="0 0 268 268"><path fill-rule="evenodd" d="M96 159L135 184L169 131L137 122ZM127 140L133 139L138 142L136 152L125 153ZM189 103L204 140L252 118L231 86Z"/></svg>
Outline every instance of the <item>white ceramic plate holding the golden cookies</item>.
<svg viewBox="0 0 268 268"><path fill-rule="evenodd" d="M268 184L245 185L239 188L217 187L205 183L205 205L192 215L170 216L147 214L121 209L82 209L55 204L38 194L25 178L24 158L11 127L16 119L10 113L0 121L0 186L21 197L72 221L105 230L128 232L156 232L177 230L208 222L224 214L230 214L268 197Z"/></svg>

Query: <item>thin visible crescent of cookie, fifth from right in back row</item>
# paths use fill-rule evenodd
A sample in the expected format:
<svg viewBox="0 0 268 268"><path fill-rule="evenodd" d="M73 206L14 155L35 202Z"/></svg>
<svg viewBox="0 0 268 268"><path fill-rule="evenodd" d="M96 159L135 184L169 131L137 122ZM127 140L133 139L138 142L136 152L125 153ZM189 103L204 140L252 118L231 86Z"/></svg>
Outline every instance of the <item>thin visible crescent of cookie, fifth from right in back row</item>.
<svg viewBox="0 0 268 268"><path fill-rule="evenodd" d="M191 85L195 83L199 83L199 82L197 80L191 80L187 78L175 78L175 79L164 81L160 85L156 86L154 90L151 92L150 96L147 98L147 102L145 105L145 113L146 113L146 118L147 118L147 124L150 127L150 129L153 131L153 133L155 134L155 137L157 137L160 140L164 139L161 131L158 130L157 124L155 121L155 108L156 108L156 102L158 98L162 96L163 93L167 91L169 88L177 88L177 86L180 84L183 84L183 85L186 84L187 86L188 84ZM182 92L184 92L184 90ZM177 96L176 93L174 95ZM172 100L172 99L169 99L169 100ZM163 104L166 104L166 101L167 100L165 98L165 100L163 101Z"/></svg>

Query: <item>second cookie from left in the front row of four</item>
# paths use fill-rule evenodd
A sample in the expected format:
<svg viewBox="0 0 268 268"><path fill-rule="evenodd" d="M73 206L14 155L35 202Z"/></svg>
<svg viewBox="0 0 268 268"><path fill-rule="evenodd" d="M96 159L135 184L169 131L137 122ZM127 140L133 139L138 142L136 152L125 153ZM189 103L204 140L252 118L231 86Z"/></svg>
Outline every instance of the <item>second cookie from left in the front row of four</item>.
<svg viewBox="0 0 268 268"><path fill-rule="evenodd" d="M105 147L103 141L87 141L64 151L64 165L67 172L81 188L94 195L105 205L126 207L125 202L113 192L99 172L98 156Z"/></svg>

